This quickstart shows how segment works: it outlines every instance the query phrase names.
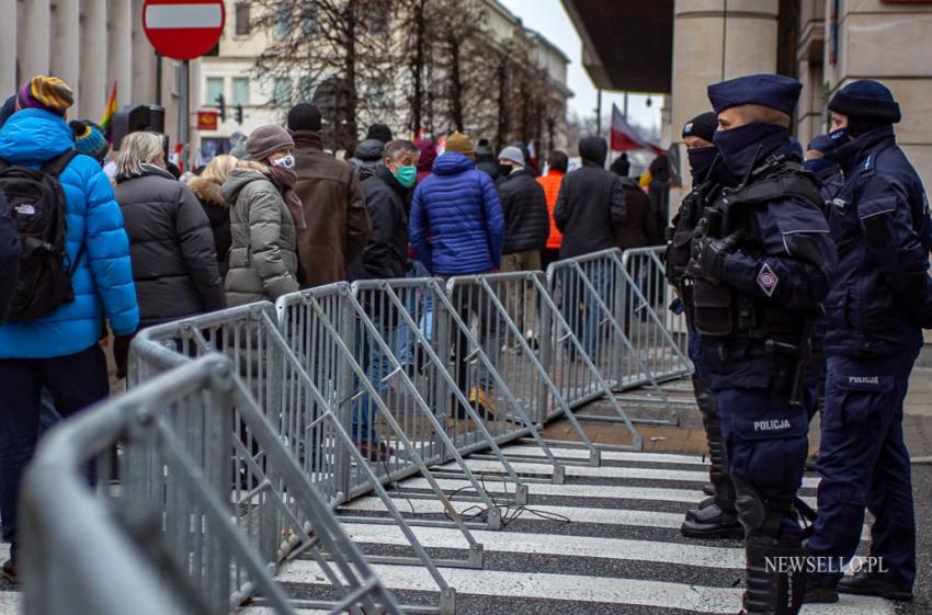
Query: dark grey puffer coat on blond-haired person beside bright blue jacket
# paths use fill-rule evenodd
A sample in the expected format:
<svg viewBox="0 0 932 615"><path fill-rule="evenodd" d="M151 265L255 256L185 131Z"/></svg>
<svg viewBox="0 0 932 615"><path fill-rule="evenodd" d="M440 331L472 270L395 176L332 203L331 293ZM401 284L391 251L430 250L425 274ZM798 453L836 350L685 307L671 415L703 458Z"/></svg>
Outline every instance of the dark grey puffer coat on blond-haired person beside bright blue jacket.
<svg viewBox="0 0 932 615"><path fill-rule="evenodd" d="M214 236L194 193L168 171L120 180L140 327L226 307Z"/></svg>

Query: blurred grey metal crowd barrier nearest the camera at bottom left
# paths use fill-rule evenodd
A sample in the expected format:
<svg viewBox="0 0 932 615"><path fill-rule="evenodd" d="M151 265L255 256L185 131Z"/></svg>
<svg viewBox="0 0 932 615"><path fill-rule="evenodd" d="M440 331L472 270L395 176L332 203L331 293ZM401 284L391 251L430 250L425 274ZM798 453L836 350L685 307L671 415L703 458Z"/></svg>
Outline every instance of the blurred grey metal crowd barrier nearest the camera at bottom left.
<svg viewBox="0 0 932 615"><path fill-rule="evenodd" d="M25 612L220 615L261 594L277 614L400 615L230 362L150 352L164 374L39 446L22 498ZM320 600L273 581L269 551L285 543L317 562Z"/></svg>

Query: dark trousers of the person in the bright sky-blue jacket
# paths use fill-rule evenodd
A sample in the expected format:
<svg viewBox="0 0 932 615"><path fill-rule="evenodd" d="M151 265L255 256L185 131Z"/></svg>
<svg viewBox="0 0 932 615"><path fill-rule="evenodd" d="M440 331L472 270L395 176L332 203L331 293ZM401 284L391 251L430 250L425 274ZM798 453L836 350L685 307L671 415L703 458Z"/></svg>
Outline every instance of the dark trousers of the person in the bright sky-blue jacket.
<svg viewBox="0 0 932 615"><path fill-rule="evenodd" d="M106 358L96 344L75 354L52 358L0 360L0 515L3 540L18 542L16 514L23 471L35 453L43 414L42 389L67 419L110 394Z"/></svg>

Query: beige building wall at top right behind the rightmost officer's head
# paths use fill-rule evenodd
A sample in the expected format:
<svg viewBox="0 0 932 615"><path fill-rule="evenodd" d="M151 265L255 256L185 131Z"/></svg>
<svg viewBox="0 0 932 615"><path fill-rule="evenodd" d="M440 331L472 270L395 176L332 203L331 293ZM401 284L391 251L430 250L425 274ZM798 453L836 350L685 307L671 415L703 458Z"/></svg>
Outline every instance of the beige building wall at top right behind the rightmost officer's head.
<svg viewBox="0 0 932 615"><path fill-rule="evenodd" d="M829 23L831 2L827 2ZM827 29L828 30L828 29ZM894 93L903 121L897 141L932 186L932 4L886 4L845 0L838 15L838 60L830 62L826 36L825 82L829 98L857 79L876 79Z"/></svg>

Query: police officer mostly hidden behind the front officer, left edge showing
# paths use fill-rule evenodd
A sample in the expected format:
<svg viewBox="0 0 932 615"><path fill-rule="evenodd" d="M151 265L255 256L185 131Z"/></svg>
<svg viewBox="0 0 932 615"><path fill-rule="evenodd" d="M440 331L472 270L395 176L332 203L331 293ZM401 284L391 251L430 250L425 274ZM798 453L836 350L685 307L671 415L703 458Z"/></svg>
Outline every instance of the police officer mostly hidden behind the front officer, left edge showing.
<svg viewBox="0 0 932 615"><path fill-rule="evenodd" d="M691 538L741 538L745 536L745 529L738 523L738 515L735 512L735 487L728 477L728 463L715 399L708 388L708 375L702 365L702 339L693 326L692 281L685 275L695 228L705 208L720 196L725 184L730 183L724 173L723 164L717 163L718 149L713 143L717 125L718 118L709 111L693 117L683 126L683 143L690 160L693 189L683 198L679 212L673 217L672 227L667 231L669 236L666 255L667 278L677 288L681 305L686 312L686 324L690 329L689 353L693 362L693 390L696 396L696 406L702 412L708 456L712 462L708 471L712 485L711 497L686 512L686 520L681 527L683 536Z"/></svg>

